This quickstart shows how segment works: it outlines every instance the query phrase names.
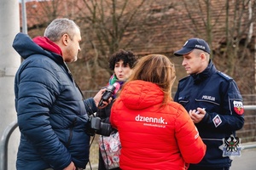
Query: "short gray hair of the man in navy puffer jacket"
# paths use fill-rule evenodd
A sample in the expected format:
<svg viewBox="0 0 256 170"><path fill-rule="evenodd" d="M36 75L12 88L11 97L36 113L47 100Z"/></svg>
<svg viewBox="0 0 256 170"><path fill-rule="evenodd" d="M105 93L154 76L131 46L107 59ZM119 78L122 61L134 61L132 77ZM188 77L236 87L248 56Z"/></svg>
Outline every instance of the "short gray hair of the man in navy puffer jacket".
<svg viewBox="0 0 256 170"><path fill-rule="evenodd" d="M73 40L77 30L79 30L79 26L73 20L55 19L45 29L44 37L48 37L52 42L57 42L64 34L67 34Z"/></svg>

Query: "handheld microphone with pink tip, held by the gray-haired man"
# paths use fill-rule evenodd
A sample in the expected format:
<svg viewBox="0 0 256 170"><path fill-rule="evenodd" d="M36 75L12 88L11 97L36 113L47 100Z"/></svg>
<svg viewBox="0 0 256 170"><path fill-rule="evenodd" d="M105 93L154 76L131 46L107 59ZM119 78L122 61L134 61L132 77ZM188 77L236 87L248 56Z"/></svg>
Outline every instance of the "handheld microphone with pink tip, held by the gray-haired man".
<svg viewBox="0 0 256 170"><path fill-rule="evenodd" d="M104 92L104 94L102 94L102 99L99 103L99 106L104 106L103 101L108 102L108 99L119 91L119 88L120 84L118 82L114 82L113 85L108 85L106 91Z"/></svg>

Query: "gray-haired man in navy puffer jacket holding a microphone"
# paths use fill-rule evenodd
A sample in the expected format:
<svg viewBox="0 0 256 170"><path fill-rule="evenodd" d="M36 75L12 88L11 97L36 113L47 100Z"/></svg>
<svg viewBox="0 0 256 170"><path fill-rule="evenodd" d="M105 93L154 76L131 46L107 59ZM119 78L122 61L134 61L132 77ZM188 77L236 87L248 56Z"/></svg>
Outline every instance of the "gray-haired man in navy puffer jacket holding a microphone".
<svg viewBox="0 0 256 170"><path fill-rule="evenodd" d="M80 41L79 26L68 19L53 20L44 37L15 37L13 47L24 59L15 76L18 170L75 170L89 160L88 114L96 112L104 89L83 99L68 70L66 63L77 60Z"/></svg>

